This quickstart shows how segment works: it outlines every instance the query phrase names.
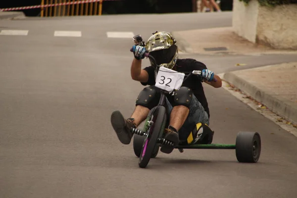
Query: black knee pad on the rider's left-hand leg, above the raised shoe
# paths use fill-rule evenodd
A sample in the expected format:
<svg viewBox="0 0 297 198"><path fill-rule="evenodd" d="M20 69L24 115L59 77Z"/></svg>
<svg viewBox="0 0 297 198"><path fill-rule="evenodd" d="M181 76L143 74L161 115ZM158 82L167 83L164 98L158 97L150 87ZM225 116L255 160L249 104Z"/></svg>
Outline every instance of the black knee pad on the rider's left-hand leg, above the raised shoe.
<svg viewBox="0 0 297 198"><path fill-rule="evenodd" d="M154 86L149 86L143 89L136 99L136 106L142 105L149 110L156 106L159 102L161 92Z"/></svg>

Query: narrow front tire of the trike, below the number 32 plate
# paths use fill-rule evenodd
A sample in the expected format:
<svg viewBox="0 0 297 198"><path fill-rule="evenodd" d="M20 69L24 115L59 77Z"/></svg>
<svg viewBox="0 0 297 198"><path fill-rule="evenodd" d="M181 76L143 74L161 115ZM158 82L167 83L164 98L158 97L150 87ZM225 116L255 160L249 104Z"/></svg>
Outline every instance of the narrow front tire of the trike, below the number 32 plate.
<svg viewBox="0 0 297 198"><path fill-rule="evenodd" d="M148 131L148 133L150 134L148 136L149 141L146 148L146 152L142 157L144 146L145 146L145 141L143 142L143 146L142 146L142 150L141 150L139 162L138 162L139 167L145 168L148 165L148 162L151 156L153 156L154 149L156 147L158 148L157 140L159 138L160 132L163 132L164 130L164 127L165 127L164 122L166 122L166 119L167 119L167 115L166 115L165 107L158 106L152 113L152 119L150 119L153 122L153 124L150 126L150 129Z"/></svg>

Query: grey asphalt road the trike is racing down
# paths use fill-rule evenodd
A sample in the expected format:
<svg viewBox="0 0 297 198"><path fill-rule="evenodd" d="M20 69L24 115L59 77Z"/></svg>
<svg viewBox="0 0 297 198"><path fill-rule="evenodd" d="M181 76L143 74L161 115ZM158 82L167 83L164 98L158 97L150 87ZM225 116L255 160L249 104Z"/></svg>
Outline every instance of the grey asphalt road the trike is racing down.
<svg viewBox="0 0 297 198"><path fill-rule="evenodd" d="M205 85L214 143L234 144L239 131L262 138L258 163L234 150L159 152L138 167L132 144L121 145L110 114L129 117L144 88L131 80L132 39L107 31L151 32L231 26L232 13L30 18L0 21L1 198L295 198L297 138L224 89ZM53 37L55 30L82 37ZM182 54L216 73L297 61L296 55ZM144 61L146 65L148 61ZM247 63L235 67L236 63Z"/></svg>

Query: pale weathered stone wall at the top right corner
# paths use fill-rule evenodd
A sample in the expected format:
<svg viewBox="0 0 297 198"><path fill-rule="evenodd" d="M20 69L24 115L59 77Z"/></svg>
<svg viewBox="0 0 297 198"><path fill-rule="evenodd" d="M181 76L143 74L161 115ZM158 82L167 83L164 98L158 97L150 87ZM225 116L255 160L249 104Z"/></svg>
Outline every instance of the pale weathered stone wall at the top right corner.
<svg viewBox="0 0 297 198"><path fill-rule="evenodd" d="M248 5L233 1L233 29L252 43L275 49L297 49L297 4L274 8L260 6L257 0Z"/></svg>

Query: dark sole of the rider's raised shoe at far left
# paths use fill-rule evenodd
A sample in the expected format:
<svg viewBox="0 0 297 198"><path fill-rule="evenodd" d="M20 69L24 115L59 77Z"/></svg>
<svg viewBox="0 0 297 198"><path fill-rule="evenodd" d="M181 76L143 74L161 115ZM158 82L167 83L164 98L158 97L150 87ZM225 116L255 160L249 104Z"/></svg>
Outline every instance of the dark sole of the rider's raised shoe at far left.
<svg viewBox="0 0 297 198"><path fill-rule="evenodd" d="M113 111L110 117L112 128L114 129L118 139L121 143L124 145L129 145L131 142L131 138L129 137L129 134L126 132L125 127L125 118L119 111Z"/></svg>

